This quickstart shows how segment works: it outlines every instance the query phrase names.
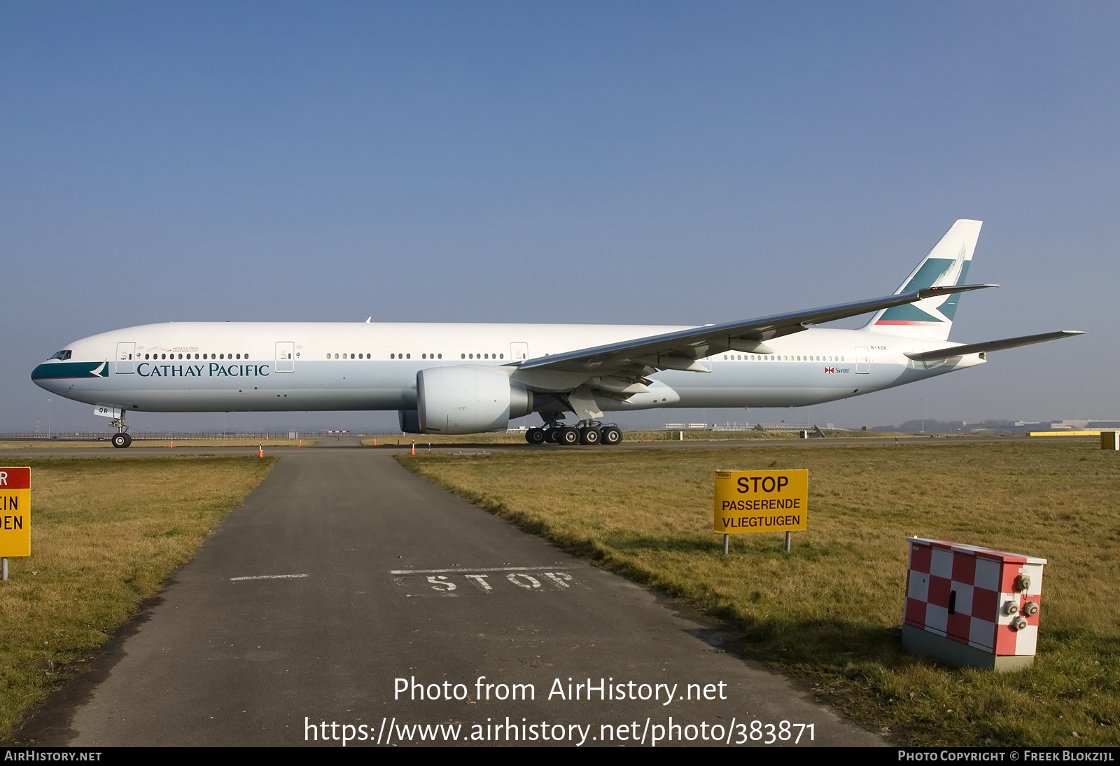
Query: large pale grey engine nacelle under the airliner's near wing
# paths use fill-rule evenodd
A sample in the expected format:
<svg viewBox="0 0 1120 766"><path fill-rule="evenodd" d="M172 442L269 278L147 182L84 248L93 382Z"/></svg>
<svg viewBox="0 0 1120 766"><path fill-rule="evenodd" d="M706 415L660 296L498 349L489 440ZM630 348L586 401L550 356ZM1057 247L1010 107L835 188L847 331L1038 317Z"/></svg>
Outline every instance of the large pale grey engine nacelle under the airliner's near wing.
<svg viewBox="0 0 1120 766"><path fill-rule="evenodd" d="M479 433L533 411L533 394L486 367L431 367L417 373L422 433Z"/></svg>

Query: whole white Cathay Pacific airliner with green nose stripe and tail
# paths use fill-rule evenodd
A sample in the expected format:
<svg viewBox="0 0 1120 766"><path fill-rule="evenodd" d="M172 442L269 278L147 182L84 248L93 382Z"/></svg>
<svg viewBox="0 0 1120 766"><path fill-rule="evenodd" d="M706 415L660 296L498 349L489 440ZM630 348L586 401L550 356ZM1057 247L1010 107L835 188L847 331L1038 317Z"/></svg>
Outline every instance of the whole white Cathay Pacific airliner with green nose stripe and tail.
<svg viewBox="0 0 1120 766"><path fill-rule="evenodd" d="M31 380L111 418L115 447L132 441L129 411L286 410L398 410L412 433L538 412L530 443L614 445L604 412L819 404L1081 335L948 339L960 293L996 287L964 283L980 225L953 224L894 295L808 311L703 327L168 323L75 340ZM816 326L871 311L859 329Z"/></svg>

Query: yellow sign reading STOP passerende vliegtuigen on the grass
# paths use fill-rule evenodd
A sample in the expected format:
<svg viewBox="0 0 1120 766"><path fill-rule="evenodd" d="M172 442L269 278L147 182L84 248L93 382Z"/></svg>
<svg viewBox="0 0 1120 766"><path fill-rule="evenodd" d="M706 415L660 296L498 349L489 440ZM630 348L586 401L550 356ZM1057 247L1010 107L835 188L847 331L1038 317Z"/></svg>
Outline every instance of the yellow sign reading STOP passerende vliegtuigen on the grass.
<svg viewBox="0 0 1120 766"><path fill-rule="evenodd" d="M809 471L717 470L716 532L809 529Z"/></svg>

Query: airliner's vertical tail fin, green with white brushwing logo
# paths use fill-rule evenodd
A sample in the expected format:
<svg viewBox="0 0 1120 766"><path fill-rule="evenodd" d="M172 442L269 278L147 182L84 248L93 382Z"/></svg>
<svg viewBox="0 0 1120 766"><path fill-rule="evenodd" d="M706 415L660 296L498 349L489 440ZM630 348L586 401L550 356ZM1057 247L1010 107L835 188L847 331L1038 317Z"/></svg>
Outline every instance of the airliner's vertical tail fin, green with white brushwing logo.
<svg viewBox="0 0 1120 766"><path fill-rule="evenodd" d="M931 287L963 284L969 274L981 225L983 224L980 221L967 218L954 223L911 275L898 286L895 295ZM953 327L953 316L956 314L960 298L959 293L939 296L906 306L883 309L871 317L864 329L912 338L945 340Z"/></svg>

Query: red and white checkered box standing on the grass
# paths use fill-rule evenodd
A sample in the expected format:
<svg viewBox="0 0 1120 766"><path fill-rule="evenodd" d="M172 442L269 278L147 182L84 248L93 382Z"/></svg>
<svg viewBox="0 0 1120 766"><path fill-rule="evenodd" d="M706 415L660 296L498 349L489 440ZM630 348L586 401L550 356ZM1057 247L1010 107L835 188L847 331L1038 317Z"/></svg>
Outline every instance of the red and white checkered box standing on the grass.
<svg viewBox="0 0 1120 766"><path fill-rule="evenodd" d="M1034 656L1046 559L906 540L904 630L911 626L995 656Z"/></svg>

